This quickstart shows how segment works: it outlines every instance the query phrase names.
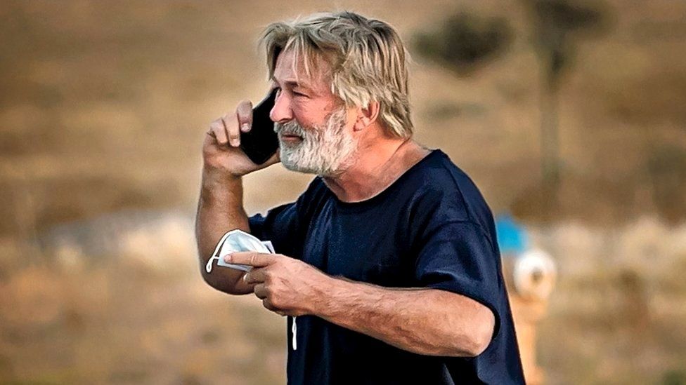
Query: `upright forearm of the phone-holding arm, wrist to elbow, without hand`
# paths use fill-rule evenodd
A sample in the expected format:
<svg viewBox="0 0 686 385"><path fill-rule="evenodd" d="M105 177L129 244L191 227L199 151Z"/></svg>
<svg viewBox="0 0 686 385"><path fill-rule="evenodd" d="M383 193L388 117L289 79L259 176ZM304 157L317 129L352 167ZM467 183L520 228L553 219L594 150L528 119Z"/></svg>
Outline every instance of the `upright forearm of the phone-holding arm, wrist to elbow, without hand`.
<svg viewBox="0 0 686 385"><path fill-rule="evenodd" d="M209 285L231 294L252 292L252 287L240 281L242 271L212 269L211 273L207 273L205 265L212 257L216 243L227 231L233 229L250 231L242 196L240 177L207 169L202 171L202 187L195 218L195 238L198 243L200 269L202 277Z"/></svg>

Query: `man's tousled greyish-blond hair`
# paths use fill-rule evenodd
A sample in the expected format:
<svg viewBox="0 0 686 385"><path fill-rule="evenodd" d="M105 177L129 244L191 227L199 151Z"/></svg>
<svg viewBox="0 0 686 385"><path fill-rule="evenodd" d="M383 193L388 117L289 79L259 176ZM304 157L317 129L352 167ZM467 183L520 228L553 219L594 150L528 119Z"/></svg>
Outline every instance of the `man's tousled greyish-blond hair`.
<svg viewBox="0 0 686 385"><path fill-rule="evenodd" d="M273 76L278 55L292 50L311 76L317 58L332 69L331 92L348 106L379 102L380 121L392 135L412 136L408 99L408 53L398 33L385 22L356 13L317 13L266 27L264 43Z"/></svg>

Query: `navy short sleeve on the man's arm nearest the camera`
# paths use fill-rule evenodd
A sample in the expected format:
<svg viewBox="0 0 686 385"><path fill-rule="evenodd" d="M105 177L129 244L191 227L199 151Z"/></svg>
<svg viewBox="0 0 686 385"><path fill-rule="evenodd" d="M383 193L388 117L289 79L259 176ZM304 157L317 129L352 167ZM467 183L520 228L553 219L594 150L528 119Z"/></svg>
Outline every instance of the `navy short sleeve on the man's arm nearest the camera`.
<svg viewBox="0 0 686 385"><path fill-rule="evenodd" d="M429 226L418 255L416 279L422 287L455 292L487 306L500 329L502 300L498 253L478 224L444 222Z"/></svg>

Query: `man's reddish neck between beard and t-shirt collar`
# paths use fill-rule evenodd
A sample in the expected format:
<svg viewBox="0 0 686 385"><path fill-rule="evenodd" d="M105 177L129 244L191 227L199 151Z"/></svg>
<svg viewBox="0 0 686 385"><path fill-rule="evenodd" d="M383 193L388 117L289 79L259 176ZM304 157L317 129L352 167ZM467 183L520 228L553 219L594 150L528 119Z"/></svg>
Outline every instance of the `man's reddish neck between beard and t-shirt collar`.
<svg viewBox="0 0 686 385"><path fill-rule="evenodd" d="M410 139L376 140L361 146L355 163L343 173L323 180L340 201L365 201L384 191L427 154L427 149Z"/></svg>

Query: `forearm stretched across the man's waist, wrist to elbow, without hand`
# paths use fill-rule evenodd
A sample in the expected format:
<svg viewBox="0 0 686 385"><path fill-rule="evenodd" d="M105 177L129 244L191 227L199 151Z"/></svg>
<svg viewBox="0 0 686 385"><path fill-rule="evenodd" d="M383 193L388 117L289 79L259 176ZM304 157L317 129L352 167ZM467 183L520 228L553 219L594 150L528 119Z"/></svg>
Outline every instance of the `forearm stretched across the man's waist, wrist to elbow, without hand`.
<svg viewBox="0 0 686 385"><path fill-rule="evenodd" d="M431 356L477 356L490 342L493 313L473 299L330 280L312 311L342 327Z"/></svg>

